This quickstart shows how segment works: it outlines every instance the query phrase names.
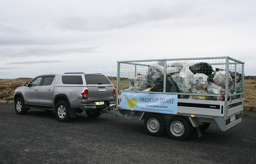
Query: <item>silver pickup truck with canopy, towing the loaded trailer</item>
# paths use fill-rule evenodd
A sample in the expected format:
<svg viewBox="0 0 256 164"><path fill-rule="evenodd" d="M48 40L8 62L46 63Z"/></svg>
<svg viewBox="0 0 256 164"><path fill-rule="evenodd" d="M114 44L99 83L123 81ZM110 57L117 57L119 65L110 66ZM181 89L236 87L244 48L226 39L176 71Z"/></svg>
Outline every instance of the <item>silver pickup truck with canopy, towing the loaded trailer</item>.
<svg viewBox="0 0 256 164"><path fill-rule="evenodd" d="M111 81L99 73L39 75L15 90L15 111L55 111L60 122L67 122L83 111L89 117L98 117L102 109L115 107L115 92Z"/></svg>

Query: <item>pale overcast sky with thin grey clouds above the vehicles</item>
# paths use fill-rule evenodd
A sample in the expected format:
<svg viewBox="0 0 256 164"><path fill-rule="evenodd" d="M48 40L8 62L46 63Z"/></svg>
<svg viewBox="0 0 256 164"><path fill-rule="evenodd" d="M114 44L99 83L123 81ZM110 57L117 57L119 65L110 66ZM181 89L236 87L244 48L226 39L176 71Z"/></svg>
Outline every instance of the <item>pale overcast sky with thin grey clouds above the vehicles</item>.
<svg viewBox="0 0 256 164"><path fill-rule="evenodd" d="M255 0L0 0L0 78L230 56L256 75Z"/></svg>

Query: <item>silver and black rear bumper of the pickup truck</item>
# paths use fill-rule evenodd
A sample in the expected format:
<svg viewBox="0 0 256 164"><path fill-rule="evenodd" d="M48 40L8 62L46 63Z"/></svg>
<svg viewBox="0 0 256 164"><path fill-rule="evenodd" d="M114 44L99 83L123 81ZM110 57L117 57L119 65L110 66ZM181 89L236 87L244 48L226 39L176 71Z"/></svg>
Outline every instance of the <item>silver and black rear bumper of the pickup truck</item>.
<svg viewBox="0 0 256 164"><path fill-rule="evenodd" d="M90 111L96 109L115 108L116 101L104 101L104 105L96 105L96 103L81 103L80 109L83 111Z"/></svg>

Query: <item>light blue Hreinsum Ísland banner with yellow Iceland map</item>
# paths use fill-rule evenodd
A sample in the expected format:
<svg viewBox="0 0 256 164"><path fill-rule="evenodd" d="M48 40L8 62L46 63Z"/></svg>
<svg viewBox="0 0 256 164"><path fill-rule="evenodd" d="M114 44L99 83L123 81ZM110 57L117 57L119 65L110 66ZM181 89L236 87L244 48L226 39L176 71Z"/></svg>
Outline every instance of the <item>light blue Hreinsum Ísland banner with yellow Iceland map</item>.
<svg viewBox="0 0 256 164"><path fill-rule="evenodd" d="M122 92L121 108L143 112L177 114L178 95Z"/></svg>

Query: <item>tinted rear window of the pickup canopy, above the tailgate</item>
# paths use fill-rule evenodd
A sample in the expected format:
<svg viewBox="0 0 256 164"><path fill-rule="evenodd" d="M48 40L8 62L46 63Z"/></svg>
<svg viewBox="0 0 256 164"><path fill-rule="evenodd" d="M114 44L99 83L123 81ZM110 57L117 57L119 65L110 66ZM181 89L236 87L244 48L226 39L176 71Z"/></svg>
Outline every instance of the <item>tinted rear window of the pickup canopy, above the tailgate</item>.
<svg viewBox="0 0 256 164"><path fill-rule="evenodd" d="M111 84L105 75L85 74L86 84Z"/></svg>

